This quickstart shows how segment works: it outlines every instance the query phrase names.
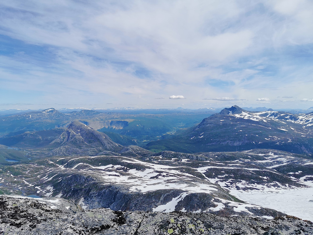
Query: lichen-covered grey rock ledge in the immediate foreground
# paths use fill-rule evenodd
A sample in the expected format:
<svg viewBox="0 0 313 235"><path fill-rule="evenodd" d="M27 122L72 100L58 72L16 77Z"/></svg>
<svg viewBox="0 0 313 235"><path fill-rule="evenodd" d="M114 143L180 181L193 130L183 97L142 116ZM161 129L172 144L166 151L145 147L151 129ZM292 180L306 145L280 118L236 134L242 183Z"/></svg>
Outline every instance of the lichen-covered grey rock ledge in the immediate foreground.
<svg viewBox="0 0 313 235"><path fill-rule="evenodd" d="M313 223L291 216L83 210L59 198L0 196L0 234L313 234Z"/></svg>

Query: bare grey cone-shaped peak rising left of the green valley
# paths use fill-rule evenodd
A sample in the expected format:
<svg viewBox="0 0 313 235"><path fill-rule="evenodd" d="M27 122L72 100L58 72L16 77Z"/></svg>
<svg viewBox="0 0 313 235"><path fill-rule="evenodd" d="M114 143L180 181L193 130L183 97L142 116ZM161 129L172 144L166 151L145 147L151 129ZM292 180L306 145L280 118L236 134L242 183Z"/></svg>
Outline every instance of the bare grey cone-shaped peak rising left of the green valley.
<svg viewBox="0 0 313 235"><path fill-rule="evenodd" d="M105 133L96 131L87 125L74 121L67 126L67 129L59 138L49 144L54 147L54 153L73 154L93 149L95 152L113 150L120 147L120 144L113 142Z"/></svg>

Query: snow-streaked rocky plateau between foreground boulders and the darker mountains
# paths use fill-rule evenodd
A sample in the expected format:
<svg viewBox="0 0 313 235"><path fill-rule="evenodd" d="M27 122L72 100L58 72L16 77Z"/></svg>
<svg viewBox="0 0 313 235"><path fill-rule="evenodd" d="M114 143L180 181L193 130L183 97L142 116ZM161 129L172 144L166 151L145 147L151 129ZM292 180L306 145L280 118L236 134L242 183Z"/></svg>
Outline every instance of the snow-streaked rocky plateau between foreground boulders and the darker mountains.
<svg viewBox="0 0 313 235"><path fill-rule="evenodd" d="M149 156L144 157L147 160L116 155L55 157L3 166L0 189L14 194L61 197L86 209L275 217L277 212L257 203L244 203L228 191L307 188L313 180L313 161L285 152L259 151L238 152L229 155L233 159L227 161L221 161L227 153L217 153L216 157L213 153L202 154L208 159L202 161L177 155L170 158L168 153L166 158L160 154L150 160ZM280 169L287 166L288 173ZM309 203L305 207L310 207Z"/></svg>

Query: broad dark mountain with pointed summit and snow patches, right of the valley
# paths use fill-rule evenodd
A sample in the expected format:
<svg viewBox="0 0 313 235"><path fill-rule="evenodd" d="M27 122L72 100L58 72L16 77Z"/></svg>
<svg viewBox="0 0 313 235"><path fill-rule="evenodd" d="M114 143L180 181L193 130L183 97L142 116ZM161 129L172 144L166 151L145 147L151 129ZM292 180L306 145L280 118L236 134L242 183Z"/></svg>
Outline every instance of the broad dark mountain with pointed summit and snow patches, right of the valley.
<svg viewBox="0 0 313 235"><path fill-rule="evenodd" d="M233 106L172 139L151 142L147 149L192 153L259 148L311 154L312 125L313 113L249 112Z"/></svg>

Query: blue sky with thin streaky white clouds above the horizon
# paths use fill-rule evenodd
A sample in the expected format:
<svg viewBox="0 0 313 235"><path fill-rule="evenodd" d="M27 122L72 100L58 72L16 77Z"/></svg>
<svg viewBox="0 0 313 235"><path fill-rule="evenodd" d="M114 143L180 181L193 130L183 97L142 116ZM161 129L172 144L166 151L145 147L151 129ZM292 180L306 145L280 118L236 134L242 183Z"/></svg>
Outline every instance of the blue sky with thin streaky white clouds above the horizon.
<svg viewBox="0 0 313 235"><path fill-rule="evenodd" d="M1 1L0 109L313 106L313 1Z"/></svg>

